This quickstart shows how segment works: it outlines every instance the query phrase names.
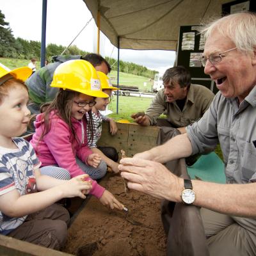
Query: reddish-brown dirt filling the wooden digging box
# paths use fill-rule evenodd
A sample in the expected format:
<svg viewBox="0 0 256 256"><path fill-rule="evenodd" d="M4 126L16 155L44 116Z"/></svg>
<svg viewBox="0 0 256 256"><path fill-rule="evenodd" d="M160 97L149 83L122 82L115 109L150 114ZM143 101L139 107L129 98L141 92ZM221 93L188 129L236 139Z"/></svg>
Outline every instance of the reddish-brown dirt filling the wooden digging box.
<svg viewBox="0 0 256 256"><path fill-rule="evenodd" d="M125 211L108 210L92 196L68 229L64 251L79 256L166 255L160 200L138 191L125 193L120 175L108 175L100 184L129 209L128 220L141 225L133 225Z"/></svg>

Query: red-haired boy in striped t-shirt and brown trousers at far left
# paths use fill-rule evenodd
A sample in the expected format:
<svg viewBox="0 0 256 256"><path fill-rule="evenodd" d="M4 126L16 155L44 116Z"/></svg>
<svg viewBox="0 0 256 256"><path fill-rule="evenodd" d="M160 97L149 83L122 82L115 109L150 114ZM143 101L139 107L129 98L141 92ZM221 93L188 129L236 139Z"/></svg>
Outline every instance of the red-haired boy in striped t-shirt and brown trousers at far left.
<svg viewBox="0 0 256 256"><path fill-rule="evenodd" d="M54 202L85 198L92 186L84 181L88 175L71 180L41 175L33 147L15 138L26 132L29 121L23 82L31 72L28 67L9 71L0 65L0 234L58 250L67 239L69 214Z"/></svg>

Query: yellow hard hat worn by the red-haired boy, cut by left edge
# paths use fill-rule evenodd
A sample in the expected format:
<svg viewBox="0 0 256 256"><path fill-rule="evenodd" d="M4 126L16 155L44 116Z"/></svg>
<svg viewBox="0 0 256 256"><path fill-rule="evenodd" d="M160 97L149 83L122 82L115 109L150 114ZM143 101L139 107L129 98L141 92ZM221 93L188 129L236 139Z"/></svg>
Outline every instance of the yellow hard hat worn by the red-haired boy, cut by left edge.
<svg viewBox="0 0 256 256"><path fill-rule="evenodd" d="M2 63L0 63L0 84L3 84L14 77L21 81L26 81L26 79L32 74L32 69L29 67L22 67L10 70L9 68L5 67ZM9 76L8 76L9 75Z"/></svg>

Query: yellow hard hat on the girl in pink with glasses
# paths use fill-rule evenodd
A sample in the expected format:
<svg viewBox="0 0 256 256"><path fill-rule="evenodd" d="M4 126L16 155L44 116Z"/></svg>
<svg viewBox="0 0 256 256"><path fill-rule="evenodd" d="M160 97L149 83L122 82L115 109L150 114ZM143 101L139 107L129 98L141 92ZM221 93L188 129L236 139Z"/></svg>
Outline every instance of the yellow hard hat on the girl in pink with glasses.
<svg viewBox="0 0 256 256"><path fill-rule="evenodd" d="M101 90L97 71L86 60L69 60L61 63L53 74L51 86L81 92L93 97L109 97Z"/></svg>

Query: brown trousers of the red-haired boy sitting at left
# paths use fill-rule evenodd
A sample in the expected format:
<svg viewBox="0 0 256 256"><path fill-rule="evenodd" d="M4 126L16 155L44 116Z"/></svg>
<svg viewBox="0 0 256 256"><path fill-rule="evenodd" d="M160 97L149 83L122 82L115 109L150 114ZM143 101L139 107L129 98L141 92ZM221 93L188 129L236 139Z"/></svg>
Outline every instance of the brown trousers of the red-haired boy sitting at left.
<svg viewBox="0 0 256 256"><path fill-rule="evenodd" d="M67 241L68 211L53 204L42 211L29 214L24 223L8 236L60 250Z"/></svg>

